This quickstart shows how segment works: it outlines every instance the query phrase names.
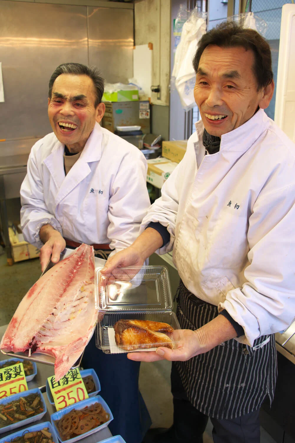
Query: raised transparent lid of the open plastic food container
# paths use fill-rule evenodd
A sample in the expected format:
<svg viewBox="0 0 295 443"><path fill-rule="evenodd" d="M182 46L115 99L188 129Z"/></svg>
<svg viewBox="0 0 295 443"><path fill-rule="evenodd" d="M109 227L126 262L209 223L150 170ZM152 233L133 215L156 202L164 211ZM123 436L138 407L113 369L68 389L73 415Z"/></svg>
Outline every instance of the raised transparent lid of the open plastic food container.
<svg viewBox="0 0 295 443"><path fill-rule="evenodd" d="M117 268L108 275L95 270L96 307L105 312L171 311L173 306L165 266Z"/></svg>

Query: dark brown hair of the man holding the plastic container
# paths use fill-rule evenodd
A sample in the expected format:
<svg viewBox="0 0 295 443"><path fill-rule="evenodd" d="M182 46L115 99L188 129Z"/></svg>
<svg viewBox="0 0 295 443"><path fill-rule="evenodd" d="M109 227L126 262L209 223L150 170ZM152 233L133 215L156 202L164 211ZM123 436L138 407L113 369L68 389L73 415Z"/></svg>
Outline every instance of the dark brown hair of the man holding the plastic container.
<svg viewBox="0 0 295 443"><path fill-rule="evenodd" d="M193 59L195 72L199 68L199 61L203 51L208 45L219 47L238 47L251 49L254 54L253 72L257 80L257 91L272 82L272 55L269 44L253 29L243 28L238 24L228 21L222 22L208 31L199 40L198 48Z"/></svg>

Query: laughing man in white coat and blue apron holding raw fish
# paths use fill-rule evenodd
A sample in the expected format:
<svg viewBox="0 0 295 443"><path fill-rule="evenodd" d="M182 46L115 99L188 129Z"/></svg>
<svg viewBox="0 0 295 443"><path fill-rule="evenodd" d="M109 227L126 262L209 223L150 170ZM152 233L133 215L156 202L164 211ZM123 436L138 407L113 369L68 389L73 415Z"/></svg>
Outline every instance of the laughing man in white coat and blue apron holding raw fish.
<svg viewBox="0 0 295 443"><path fill-rule="evenodd" d="M41 249L42 270L50 257L54 263L60 259L66 245L93 245L100 258L126 248L149 207L146 159L100 127L102 95L96 68L65 63L50 78L48 116L54 132L34 144L20 190L23 235ZM112 433L138 443L150 419L138 391L139 365L130 363L124 355L103 354L94 337L82 360L100 378L114 416Z"/></svg>

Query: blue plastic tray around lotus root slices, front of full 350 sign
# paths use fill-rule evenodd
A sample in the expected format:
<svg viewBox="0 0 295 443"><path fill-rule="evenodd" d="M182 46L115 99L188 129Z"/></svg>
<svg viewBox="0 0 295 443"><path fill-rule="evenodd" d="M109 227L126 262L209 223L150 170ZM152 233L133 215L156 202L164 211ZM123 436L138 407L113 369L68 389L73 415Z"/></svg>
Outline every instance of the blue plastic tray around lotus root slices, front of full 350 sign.
<svg viewBox="0 0 295 443"><path fill-rule="evenodd" d="M105 423L101 424L100 426L94 427L93 429L90 429L90 431L85 432L84 434L81 435L77 435L77 437L74 437L73 439L69 439L69 440L62 440L61 436L59 435L58 429L54 423L54 420L60 420L62 416L64 416L65 414L67 414L68 412L72 411L73 409L83 409L85 408L85 406L90 406L91 404L95 404L95 403L100 403L103 406L103 409L110 414L110 419L108 421L106 421ZM103 429L104 427L107 427L109 423L111 423L111 420L113 420L113 414L111 413L111 409L107 406L106 402L103 400L103 398L98 395L96 397L91 397L91 398L86 398L86 400L81 400L78 403L75 404L71 404L70 406L67 406L64 409L61 409L61 411L57 411L54 412L54 414L51 414L50 416L50 420L51 423L54 427L54 431L56 432L56 435L58 437L58 439L61 442L66 442L66 443L72 443L72 442L76 442L77 440L81 440L84 439L85 437L88 437L88 435L94 434L97 431L100 431L101 429Z"/></svg>

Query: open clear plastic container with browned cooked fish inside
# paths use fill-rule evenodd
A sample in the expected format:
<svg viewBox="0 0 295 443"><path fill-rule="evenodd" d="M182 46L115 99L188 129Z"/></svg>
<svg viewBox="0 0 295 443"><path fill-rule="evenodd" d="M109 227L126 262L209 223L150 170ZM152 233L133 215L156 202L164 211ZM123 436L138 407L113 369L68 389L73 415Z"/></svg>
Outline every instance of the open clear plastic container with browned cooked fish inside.
<svg viewBox="0 0 295 443"><path fill-rule="evenodd" d="M119 268L109 275L102 275L100 269L95 270L96 307L100 310L96 346L106 354L175 348L180 326L172 312L167 268Z"/></svg>

